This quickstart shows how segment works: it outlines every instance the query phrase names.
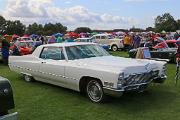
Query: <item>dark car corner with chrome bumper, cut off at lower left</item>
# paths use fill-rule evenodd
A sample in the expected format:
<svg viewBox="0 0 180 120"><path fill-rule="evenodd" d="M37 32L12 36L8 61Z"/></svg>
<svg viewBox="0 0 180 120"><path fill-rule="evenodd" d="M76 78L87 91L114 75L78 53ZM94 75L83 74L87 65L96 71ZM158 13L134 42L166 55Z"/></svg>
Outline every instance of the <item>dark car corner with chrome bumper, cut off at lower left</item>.
<svg viewBox="0 0 180 120"><path fill-rule="evenodd" d="M0 76L0 120L16 120L17 113L9 113L14 108L13 91L8 79Z"/></svg>

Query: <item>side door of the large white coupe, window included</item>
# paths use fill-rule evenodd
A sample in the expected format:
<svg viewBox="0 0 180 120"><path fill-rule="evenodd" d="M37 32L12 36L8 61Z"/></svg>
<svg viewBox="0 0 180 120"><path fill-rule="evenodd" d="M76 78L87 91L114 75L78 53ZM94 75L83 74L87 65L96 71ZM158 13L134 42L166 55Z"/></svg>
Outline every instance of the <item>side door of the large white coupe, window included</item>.
<svg viewBox="0 0 180 120"><path fill-rule="evenodd" d="M44 47L41 55L40 74L44 82L64 86L65 81L65 64L63 48L61 47Z"/></svg>

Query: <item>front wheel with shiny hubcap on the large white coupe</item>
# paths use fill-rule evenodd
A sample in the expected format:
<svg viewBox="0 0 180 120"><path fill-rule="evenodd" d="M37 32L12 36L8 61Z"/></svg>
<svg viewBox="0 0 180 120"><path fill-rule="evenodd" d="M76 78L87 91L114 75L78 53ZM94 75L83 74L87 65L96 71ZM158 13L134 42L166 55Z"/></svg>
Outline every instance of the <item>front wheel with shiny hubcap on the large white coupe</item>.
<svg viewBox="0 0 180 120"><path fill-rule="evenodd" d="M88 98L95 103L100 103L105 100L105 95L102 85L96 80L90 80L86 86Z"/></svg>

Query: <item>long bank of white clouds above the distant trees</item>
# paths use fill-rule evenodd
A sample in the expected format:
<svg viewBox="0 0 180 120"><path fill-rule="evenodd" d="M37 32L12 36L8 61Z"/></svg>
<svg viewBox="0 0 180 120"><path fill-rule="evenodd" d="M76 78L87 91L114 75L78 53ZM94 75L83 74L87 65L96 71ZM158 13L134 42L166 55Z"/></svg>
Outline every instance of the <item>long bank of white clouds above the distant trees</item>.
<svg viewBox="0 0 180 120"><path fill-rule="evenodd" d="M140 24L131 17L93 13L83 6L58 8L53 5L53 0L8 0L2 14L6 19L18 19L26 25L33 22L41 24L60 22L69 29L80 26L92 29L130 28Z"/></svg>

